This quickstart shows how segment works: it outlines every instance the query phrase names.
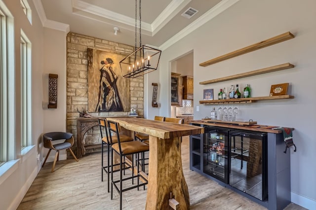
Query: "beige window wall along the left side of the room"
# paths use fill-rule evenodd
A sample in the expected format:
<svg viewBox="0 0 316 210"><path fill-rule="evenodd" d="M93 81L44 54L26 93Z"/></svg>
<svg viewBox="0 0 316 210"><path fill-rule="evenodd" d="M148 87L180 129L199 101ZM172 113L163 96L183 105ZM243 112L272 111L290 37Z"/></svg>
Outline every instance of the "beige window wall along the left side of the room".
<svg viewBox="0 0 316 210"><path fill-rule="evenodd" d="M19 158L16 164L0 177L0 209L16 209L23 199L25 193L31 186L34 178L40 170L39 142L43 132L43 110L42 110L42 72L43 72L43 28L37 16L33 2L28 1L33 11L32 24L28 21L20 5L20 0L2 0L14 17L14 40L15 40L15 121L16 136L12 138L16 142ZM26 154L20 155L20 40L21 29L32 43L32 144L35 146ZM10 58L12 59L12 58ZM13 94L13 93L12 93Z"/></svg>

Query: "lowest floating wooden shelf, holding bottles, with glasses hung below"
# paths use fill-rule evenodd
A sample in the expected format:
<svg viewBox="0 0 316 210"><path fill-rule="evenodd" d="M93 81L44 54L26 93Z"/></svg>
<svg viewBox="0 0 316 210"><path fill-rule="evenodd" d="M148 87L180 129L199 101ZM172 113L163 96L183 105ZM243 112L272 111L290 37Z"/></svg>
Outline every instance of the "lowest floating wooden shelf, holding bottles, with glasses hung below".
<svg viewBox="0 0 316 210"><path fill-rule="evenodd" d="M223 99L223 100L203 100L199 101L200 104L238 104L238 103L253 103L256 101L264 100L276 100L276 99L294 99L294 96L283 95L283 96L263 96L263 97L252 97L252 98L240 98L240 99Z"/></svg>

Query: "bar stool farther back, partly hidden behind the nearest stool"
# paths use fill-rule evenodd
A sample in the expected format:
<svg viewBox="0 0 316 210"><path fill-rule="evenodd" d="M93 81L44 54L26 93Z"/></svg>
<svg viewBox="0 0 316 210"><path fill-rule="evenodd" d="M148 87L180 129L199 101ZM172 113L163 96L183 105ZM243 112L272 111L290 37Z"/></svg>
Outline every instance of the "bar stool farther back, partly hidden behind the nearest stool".
<svg viewBox="0 0 316 210"><path fill-rule="evenodd" d="M106 119L105 118L99 118L99 127L100 127L100 134L101 134L101 139L102 139L102 146L101 146L101 154L102 154L102 158L101 158L101 181L103 181L103 171L108 175L108 192L110 192L110 167L112 165L110 165L110 145L111 145L111 141L109 140L109 135L111 133L108 133L108 129L107 129L107 123L106 123ZM104 133L105 132L105 136ZM118 128L118 132L120 132L120 128ZM124 141L132 141L133 138L126 136L126 135L120 135L120 141L124 142ZM117 136L113 136L112 137L112 142L113 143L117 143L118 142L118 137ZM108 148L108 164L106 166L104 166L104 161L103 161L103 156L104 156L104 148L103 146L107 145Z"/></svg>

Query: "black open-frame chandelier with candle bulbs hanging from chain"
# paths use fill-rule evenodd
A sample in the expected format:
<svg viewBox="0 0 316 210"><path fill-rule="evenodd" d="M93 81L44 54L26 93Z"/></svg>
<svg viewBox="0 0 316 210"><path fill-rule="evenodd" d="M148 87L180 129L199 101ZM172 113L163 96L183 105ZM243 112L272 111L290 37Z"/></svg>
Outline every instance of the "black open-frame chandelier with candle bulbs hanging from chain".
<svg viewBox="0 0 316 210"><path fill-rule="evenodd" d="M119 62L123 77L136 78L157 70L161 50L142 45L141 0L139 0L139 47L137 47L137 0L135 0L135 51Z"/></svg>

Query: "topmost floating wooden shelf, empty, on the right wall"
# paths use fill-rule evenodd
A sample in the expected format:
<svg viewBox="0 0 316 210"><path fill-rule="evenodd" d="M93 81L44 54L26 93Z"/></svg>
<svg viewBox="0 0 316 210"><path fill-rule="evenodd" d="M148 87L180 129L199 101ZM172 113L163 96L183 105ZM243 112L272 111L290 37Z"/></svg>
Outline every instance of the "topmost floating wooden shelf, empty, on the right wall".
<svg viewBox="0 0 316 210"><path fill-rule="evenodd" d="M264 47L268 47L268 46L277 44L279 42L286 41L286 40L291 39L291 38L294 38L294 35L292 35L290 32L286 32L284 34L277 35L277 36L274 36L274 37L269 38L267 40L260 41L258 43L241 48L241 49L236 50L234 52L231 52L231 53L219 56L217 58L205 61L203 63L200 63L199 66L207 67L209 65L216 64L218 62L225 61L227 59L231 59L231 58L237 57L239 55L243 55L243 54L246 54L248 52L252 52L252 51L264 48Z"/></svg>

